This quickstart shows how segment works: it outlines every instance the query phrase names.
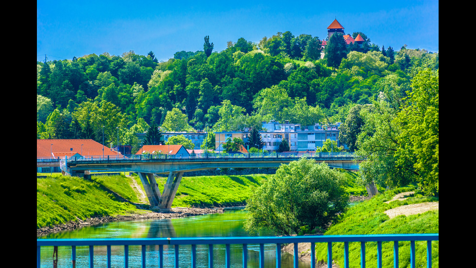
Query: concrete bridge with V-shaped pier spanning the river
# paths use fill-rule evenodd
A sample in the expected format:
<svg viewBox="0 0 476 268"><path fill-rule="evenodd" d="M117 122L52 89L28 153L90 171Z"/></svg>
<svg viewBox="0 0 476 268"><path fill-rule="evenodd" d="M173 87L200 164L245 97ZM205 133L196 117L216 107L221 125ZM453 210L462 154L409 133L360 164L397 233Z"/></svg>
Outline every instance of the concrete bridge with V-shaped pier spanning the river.
<svg viewBox="0 0 476 268"><path fill-rule="evenodd" d="M88 156L64 158L60 166L71 176L90 178L94 171L136 172L154 209L170 210L184 172L217 168L278 168L281 164L297 161L301 157L325 162L332 168L357 170L360 161L350 153L270 153L270 154L196 154ZM154 174L168 174L164 190L160 193Z"/></svg>

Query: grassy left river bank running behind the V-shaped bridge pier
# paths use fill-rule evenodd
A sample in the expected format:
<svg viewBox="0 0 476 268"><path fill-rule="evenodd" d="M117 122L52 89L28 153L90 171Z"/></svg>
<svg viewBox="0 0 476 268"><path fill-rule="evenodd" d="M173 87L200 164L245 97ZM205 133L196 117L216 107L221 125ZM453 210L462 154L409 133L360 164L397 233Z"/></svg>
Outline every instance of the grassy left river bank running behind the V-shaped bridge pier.
<svg viewBox="0 0 476 268"><path fill-rule="evenodd" d="M252 188L269 175L184 177L172 207L244 205ZM134 181L133 181L134 180ZM167 178L156 178L163 191ZM140 189L137 189L139 187ZM36 179L36 228L97 216L146 213L147 198L138 177L92 176L91 180L53 175Z"/></svg>

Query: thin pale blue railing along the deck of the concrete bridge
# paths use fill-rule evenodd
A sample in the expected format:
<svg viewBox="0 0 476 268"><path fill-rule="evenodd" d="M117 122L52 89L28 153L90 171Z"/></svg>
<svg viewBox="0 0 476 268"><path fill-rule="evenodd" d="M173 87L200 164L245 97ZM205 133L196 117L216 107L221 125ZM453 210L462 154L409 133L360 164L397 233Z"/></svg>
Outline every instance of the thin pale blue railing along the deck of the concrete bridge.
<svg viewBox="0 0 476 268"><path fill-rule="evenodd" d="M215 159L215 158L355 158L354 153L322 153L322 152L284 152L284 153L200 153L189 155L167 155L167 154L140 154L140 155L108 155L108 156L82 156L66 157L67 161L111 161L111 160L152 160L152 159ZM37 158L36 161L46 161Z"/></svg>

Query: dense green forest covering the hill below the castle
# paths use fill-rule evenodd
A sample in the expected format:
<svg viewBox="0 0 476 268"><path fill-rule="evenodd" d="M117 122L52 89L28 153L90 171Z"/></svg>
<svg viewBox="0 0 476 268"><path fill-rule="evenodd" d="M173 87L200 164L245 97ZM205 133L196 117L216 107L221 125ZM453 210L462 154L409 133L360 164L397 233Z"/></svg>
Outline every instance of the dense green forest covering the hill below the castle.
<svg viewBox="0 0 476 268"><path fill-rule="evenodd" d="M230 131L260 128L268 120L342 122L342 142L368 157L374 149L365 141L378 140L376 134L384 130L376 124L385 121L370 114L390 116L399 126L417 124L404 122L411 117L401 113L418 108L412 105L418 101L415 85L425 88L425 81L436 77L436 93L425 99L435 106L439 55L406 45L394 51L371 43L363 33L353 36L357 34L366 40L363 46L346 46L342 35L335 34L325 51L317 36L285 32L259 43L229 41L221 52L214 52L205 36L203 50L178 51L166 62L158 62L152 51L38 61L36 137L100 143L104 137L108 145L119 140L137 146L135 134L149 125L161 126L161 131ZM412 134L389 127L399 137ZM391 150L403 148L402 143L394 146ZM394 172L415 173L415 167L410 169Z"/></svg>

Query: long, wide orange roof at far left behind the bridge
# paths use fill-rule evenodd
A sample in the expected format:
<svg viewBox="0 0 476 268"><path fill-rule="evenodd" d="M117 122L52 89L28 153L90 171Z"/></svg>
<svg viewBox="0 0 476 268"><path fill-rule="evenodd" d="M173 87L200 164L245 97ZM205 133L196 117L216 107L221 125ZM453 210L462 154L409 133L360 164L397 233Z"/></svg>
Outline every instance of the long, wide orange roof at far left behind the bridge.
<svg viewBox="0 0 476 268"><path fill-rule="evenodd" d="M82 156L102 155L102 144L91 139L45 139L36 140L36 157L64 157L80 154ZM118 152L112 151L104 146L104 155L117 155ZM119 155L121 155L119 153Z"/></svg>

